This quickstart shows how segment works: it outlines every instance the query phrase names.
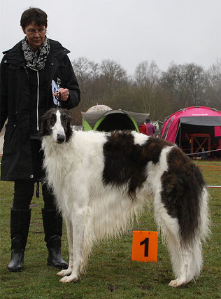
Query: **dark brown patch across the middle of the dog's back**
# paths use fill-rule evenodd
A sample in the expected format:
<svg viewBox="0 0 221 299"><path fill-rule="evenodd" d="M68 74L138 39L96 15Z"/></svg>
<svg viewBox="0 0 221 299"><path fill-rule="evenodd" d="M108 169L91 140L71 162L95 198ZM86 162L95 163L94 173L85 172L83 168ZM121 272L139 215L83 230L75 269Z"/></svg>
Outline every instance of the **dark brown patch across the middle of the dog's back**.
<svg viewBox="0 0 221 299"><path fill-rule="evenodd" d="M159 162L162 148L172 144L153 137L142 146L134 144L134 135L131 132L113 132L106 138L103 182L113 186L128 184L128 195L134 200L136 190L141 188L147 179L148 162Z"/></svg>

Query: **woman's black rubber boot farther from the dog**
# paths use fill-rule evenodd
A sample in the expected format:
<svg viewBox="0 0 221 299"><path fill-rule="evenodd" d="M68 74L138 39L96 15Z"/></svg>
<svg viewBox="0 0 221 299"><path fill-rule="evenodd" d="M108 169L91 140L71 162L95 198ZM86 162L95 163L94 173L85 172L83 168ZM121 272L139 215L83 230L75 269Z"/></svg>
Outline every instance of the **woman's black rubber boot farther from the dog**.
<svg viewBox="0 0 221 299"><path fill-rule="evenodd" d="M31 209L10 209L11 260L8 271L21 272L29 234Z"/></svg>

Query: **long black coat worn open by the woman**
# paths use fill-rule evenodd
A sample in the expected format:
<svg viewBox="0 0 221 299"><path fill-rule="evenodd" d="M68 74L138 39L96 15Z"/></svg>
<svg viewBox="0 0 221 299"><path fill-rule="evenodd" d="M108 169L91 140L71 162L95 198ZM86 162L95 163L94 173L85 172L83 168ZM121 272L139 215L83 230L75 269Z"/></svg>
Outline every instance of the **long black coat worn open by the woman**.
<svg viewBox="0 0 221 299"><path fill-rule="evenodd" d="M55 104L52 100L52 80L61 79L61 88L69 89L69 98L62 108L71 109L80 102L80 90L71 62L69 50L57 41L50 40L50 53L45 65L45 110ZM29 72L22 53L21 41L8 50L1 61L0 132L6 124L1 180L32 179L33 167L30 144L30 88ZM41 99L42 100L42 99Z"/></svg>

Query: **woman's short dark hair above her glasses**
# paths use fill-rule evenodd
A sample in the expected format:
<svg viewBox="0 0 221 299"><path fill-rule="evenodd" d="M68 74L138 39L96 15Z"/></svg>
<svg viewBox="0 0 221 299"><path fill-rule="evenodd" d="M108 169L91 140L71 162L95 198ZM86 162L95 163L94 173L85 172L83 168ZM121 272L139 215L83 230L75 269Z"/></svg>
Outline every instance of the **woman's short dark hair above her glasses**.
<svg viewBox="0 0 221 299"><path fill-rule="evenodd" d="M24 13L22 13L20 25L22 28L34 22L34 25L48 27L48 15L40 8L29 7Z"/></svg>

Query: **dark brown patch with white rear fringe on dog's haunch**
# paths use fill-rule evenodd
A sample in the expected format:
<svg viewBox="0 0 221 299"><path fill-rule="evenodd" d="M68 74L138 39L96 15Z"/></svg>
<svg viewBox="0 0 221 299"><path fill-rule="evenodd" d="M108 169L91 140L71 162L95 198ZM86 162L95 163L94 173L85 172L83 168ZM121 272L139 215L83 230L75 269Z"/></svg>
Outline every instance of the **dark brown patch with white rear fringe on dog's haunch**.
<svg viewBox="0 0 221 299"><path fill-rule="evenodd" d="M167 156L168 170L162 175L162 203L176 218L180 243L190 246L210 232L208 192L199 168L179 148Z"/></svg>

